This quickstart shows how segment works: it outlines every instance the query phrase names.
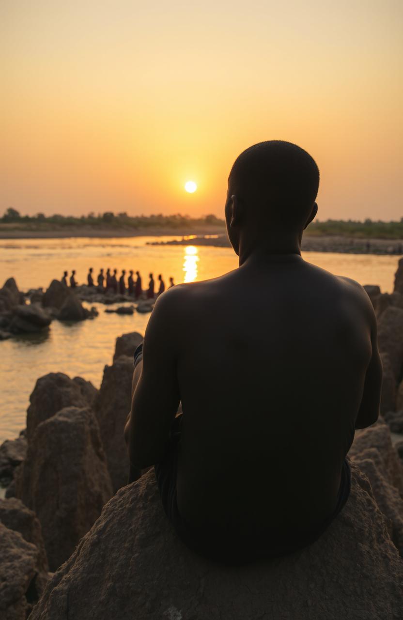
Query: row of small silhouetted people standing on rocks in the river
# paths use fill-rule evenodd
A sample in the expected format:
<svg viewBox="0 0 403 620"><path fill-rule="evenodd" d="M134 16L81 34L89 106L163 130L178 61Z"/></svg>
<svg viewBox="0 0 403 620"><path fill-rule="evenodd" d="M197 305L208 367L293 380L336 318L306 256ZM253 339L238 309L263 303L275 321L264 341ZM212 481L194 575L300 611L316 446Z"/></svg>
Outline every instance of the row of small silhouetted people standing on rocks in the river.
<svg viewBox="0 0 403 620"><path fill-rule="evenodd" d="M130 296L133 296L135 299L139 299L141 295L143 294L141 275L140 275L140 272L137 271L136 278L135 278L133 277L133 274L134 274L133 270L130 270L129 276L127 279L127 285L126 285L126 282L125 282L126 270L125 269L122 270L122 275L120 275L119 279L118 279L117 269L113 269L113 272L111 272L110 268L108 268L106 273L104 273L103 269L100 269L99 274L97 275L97 285L96 285L97 290L100 293L106 293L107 291L112 291L113 293L120 293L121 295L128 293ZM63 278L61 278L61 281L66 286L68 286L67 278L68 278L68 272L64 272ZM159 287L158 287L157 294L161 295L161 293L164 293L165 291L165 283L164 283L164 280L162 280L161 273L158 276L158 281L159 281ZM71 272L71 276L69 278L69 285L71 288L76 288L77 286L75 270ZM87 275L87 285L95 286L92 267L89 268L89 272ZM171 288L172 286L174 286L174 278L170 277L168 288ZM144 291L146 293L147 299L154 299L154 296L155 296L154 288L155 288L155 285L154 285L153 273L150 273L148 289Z"/></svg>

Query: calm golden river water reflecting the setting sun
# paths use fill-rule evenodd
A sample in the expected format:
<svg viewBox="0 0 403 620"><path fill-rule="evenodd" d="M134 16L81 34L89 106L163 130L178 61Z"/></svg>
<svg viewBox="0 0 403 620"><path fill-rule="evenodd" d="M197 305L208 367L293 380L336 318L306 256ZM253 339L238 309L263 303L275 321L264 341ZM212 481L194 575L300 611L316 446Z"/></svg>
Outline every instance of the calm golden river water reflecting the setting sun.
<svg viewBox="0 0 403 620"><path fill-rule="evenodd" d="M134 237L127 239L13 239L0 241L0 285L13 276L20 289L47 287L64 270L76 269L79 283L88 267L95 275L100 267L139 270L146 286L148 273L162 273L166 283L204 280L237 267L229 248L147 246L148 241L180 237ZM378 284L391 291L399 257L306 252L305 260L361 284ZM49 372L82 376L99 387L105 364L112 361L115 339L126 332L144 333L149 315L105 314L95 304L94 321L51 324L48 334L0 342L0 443L14 438L25 427L29 395L38 377Z"/></svg>

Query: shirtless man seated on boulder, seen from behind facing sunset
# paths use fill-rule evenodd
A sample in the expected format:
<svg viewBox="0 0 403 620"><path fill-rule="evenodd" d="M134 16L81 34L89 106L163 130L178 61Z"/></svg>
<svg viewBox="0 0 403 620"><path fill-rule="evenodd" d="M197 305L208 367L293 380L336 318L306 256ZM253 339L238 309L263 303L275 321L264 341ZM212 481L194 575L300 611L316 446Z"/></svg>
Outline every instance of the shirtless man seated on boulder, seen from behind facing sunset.
<svg viewBox="0 0 403 620"><path fill-rule="evenodd" d="M157 299L136 356L131 476L156 465L179 536L225 562L316 540L347 501L355 428L378 418L370 299L301 257L318 186L294 144L244 151L225 205L239 268Z"/></svg>

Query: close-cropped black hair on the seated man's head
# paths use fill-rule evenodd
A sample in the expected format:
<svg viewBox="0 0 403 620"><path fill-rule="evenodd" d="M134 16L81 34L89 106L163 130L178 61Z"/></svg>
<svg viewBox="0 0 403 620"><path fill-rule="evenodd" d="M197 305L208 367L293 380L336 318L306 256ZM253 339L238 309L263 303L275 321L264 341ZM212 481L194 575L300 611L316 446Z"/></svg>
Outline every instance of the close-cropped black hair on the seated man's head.
<svg viewBox="0 0 403 620"><path fill-rule="evenodd" d="M237 157L228 177L229 197L236 195L246 215L286 228L304 226L319 188L319 169L296 144L268 140Z"/></svg>

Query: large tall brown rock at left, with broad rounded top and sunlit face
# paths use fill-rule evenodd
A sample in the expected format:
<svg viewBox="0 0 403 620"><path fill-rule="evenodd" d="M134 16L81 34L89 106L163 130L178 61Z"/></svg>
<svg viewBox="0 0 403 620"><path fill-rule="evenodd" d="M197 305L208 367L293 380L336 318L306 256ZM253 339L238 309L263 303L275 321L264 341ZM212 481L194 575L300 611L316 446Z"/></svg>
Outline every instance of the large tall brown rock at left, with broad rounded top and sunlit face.
<svg viewBox="0 0 403 620"><path fill-rule="evenodd" d="M91 410L66 407L41 422L29 440L17 496L38 516L51 570L68 559L111 495Z"/></svg>

